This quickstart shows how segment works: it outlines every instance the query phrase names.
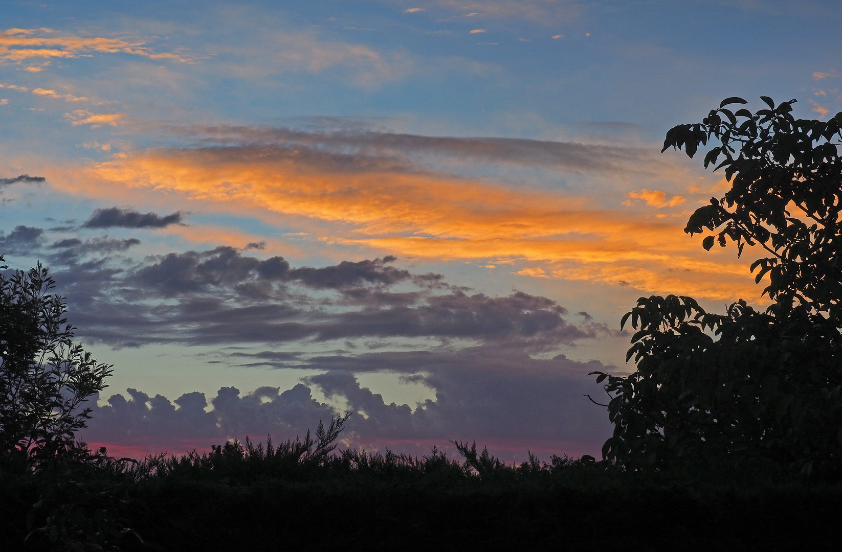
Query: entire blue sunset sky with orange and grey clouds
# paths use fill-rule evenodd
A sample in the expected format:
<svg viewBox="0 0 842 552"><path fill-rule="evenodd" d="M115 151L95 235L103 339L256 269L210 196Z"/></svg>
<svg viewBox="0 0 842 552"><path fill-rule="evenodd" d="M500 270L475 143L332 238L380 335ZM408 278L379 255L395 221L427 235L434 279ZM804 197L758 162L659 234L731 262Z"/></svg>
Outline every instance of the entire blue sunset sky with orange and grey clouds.
<svg viewBox="0 0 842 552"><path fill-rule="evenodd" d="M0 253L114 364L80 437L600 455L644 295L765 305L674 125L842 110L826 2L3 2ZM759 255L757 255L759 256ZM601 397L601 399L600 399Z"/></svg>

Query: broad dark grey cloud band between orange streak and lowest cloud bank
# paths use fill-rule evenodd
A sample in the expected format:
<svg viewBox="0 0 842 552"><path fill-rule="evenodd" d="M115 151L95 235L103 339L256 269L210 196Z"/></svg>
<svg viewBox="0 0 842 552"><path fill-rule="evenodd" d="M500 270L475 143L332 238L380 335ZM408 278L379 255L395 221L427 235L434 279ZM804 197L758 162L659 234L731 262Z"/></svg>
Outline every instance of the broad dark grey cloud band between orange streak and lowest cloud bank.
<svg viewBox="0 0 842 552"><path fill-rule="evenodd" d="M321 268L292 268L283 257L261 260L233 247L169 253L133 266L101 257L136 242L101 236L51 246L48 258L59 268L59 290L80 336L118 347L368 339L366 347L382 348L420 338L546 351L608 332L588 319L568 321L567 311L546 297L468 294L438 274L397 268L394 257ZM414 289L396 291L394 284ZM269 361L248 364L262 362Z"/></svg>

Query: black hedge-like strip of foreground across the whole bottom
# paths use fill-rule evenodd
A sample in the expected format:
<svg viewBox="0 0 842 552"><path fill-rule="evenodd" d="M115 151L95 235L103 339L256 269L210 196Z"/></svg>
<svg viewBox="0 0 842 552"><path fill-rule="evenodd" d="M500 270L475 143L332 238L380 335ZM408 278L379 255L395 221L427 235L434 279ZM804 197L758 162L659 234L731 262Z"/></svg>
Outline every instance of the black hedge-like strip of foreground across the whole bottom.
<svg viewBox="0 0 842 552"><path fill-rule="evenodd" d="M839 484L751 470L218 459L38 481L0 471L0 549L823 550L839 549L842 526Z"/></svg>

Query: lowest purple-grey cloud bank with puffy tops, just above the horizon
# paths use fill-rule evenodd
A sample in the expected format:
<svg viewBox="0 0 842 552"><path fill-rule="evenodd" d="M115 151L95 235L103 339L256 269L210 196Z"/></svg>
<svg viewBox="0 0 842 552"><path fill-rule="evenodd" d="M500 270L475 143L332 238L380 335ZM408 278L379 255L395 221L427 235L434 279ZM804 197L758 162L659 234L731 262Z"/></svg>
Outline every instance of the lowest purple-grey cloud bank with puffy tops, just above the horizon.
<svg viewBox="0 0 842 552"><path fill-rule="evenodd" d="M378 353L390 356L391 353ZM194 447L208 449L228 438L303 436L340 413L316 401L317 388L354 412L344 442L366 449L424 454L448 439L477 440L504 459L525 459L526 449L544 454L599 454L610 435L603 409L584 394L599 392L588 372L604 369L596 362L566 358L536 360L525 353L473 348L461 353L425 355L423 371L410 379L435 392L417 405L386 404L382 395L360 385L349 370L330 370L306 378L290 390L262 387L246 395L223 387L205 411L205 395L189 393L172 402L128 390L130 399L112 395L98 407L81 437L138 453ZM388 364L384 360L381 364ZM314 364L315 365L315 364ZM178 406L178 407L177 407Z"/></svg>

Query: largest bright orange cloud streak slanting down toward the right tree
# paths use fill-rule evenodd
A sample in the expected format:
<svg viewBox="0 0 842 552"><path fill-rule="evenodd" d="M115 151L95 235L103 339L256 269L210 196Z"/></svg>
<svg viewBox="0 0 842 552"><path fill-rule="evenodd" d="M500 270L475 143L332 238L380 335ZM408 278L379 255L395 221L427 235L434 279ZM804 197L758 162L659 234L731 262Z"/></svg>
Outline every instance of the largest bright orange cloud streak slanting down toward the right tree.
<svg viewBox="0 0 842 552"><path fill-rule="evenodd" d="M600 210L581 197L412 172L386 162L331 166L310 158L312 152L274 146L120 155L89 166L83 180L65 185L67 191L160 194L170 204L183 202L185 210L192 203L239 215L274 213L285 226L311 220L306 230L314 239L344 249L482 265L504 259L524 276L631 285L647 293L717 300L759 295L749 261L738 261L731 249L703 251L700 236L684 234L684 218ZM658 190L633 194L655 206L683 201L668 201Z"/></svg>

